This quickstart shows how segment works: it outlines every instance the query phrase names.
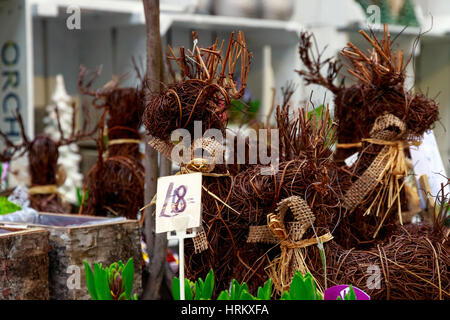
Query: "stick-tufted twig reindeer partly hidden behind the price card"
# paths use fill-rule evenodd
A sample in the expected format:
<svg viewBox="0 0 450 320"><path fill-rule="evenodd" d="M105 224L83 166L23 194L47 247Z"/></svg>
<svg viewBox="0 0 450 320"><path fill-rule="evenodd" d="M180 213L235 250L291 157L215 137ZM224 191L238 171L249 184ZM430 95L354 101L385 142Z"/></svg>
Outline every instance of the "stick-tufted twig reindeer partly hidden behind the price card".
<svg viewBox="0 0 450 320"><path fill-rule="evenodd" d="M194 152L195 157L190 157L191 161L183 159L180 171L202 172L203 175L203 231L193 241L186 242L186 274L189 278L204 277L213 268L216 291L220 291L226 289L231 280L230 262L236 253L234 245L230 245L233 235L227 223L230 216L239 214L226 203L232 184L230 171L233 170L228 170L230 166L224 163L205 163L205 154L212 155L206 152L208 149L215 150L212 158L219 154L222 156L223 152L220 146L211 148L214 145L205 139L206 136L196 138L195 122L201 121L203 133L216 129L225 135L226 111L231 100L241 98L245 92L252 54L243 32L231 33L228 41L216 40L206 48L197 45L194 33L192 50L181 47L177 54L171 47L168 50L169 73L175 81L163 86L161 92L147 92L143 123L147 134L151 135L149 144L175 163L178 161L172 156L172 150L180 150L181 144L186 146L186 150L193 146L193 149L205 151L201 157L195 156ZM172 66L177 67L177 75ZM171 134L176 129L187 130L194 139L172 143ZM226 213L228 211L232 213Z"/></svg>

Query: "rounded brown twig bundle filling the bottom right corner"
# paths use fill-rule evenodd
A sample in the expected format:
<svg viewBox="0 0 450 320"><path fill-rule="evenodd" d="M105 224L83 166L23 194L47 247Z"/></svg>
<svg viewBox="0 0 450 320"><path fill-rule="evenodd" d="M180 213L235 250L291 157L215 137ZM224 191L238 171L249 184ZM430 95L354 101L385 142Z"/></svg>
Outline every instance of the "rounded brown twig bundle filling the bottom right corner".
<svg viewBox="0 0 450 320"><path fill-rule="evenodd" d="M352 284L374 300L450 299L450 248L431 226L398 226L386 241L367 250L344 249L332 241L325 254L328 286ZM317 248L310 248L307 257L323 284Z"/></svg>

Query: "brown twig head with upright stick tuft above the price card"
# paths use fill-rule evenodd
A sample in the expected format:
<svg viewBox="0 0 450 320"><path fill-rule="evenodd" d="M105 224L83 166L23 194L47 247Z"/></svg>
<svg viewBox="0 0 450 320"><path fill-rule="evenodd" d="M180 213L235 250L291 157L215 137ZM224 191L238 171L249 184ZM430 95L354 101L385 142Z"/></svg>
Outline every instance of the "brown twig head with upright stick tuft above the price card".
<svg viewBox="0 0 450 320"><path fill-rule="evenodd" d="M180 56L176 57L169 46L169 69L175 79L171 67L174 61L181 79L165 86L157 94L148 92L143 117L148 134L163 141L167 141L172 131L178 128L187 129L192 134L194 121L202 121L203 132L214 128L224 133L225 111L231 99L239 99L244 94L251 59L242 32L236 38L232 33L225 55L224 49L224 41L219 45L216 40L209 48L195 45L191 51L181 47ZM235 79L238 63L240 87Z"/></svg>

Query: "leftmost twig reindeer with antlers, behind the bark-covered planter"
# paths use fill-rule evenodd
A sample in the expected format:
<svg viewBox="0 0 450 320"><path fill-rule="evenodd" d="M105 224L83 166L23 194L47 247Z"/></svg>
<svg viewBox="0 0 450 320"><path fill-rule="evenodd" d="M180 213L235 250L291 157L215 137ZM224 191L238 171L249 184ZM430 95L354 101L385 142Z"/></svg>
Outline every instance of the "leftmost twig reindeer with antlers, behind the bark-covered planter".
<svg viewBox="0 0 450 320"><path fill-rule="evenodd" d="M58 108L55 106L55 113L59 131L59 140L55 141L46 134L39 134L30 140L24 129L23 119L17 112L17 119L20 125L22 142L13 143L7 135L0 131L0 136L5 142L5 147L0 154L2 162L14 161L25 154L28 154L29 171L31 185L29 188L30 206L42 212L66 213L70 212L70 206L64 202L64 196L58 193L58 186L64 183L66 178L62 167L58 166L58 148L63 145L83 140L90 137L93 131L87 131L87 121L82 129L76 131L76 108L72 104L72 130L70 136L66 137L61 127Z"/></svg>

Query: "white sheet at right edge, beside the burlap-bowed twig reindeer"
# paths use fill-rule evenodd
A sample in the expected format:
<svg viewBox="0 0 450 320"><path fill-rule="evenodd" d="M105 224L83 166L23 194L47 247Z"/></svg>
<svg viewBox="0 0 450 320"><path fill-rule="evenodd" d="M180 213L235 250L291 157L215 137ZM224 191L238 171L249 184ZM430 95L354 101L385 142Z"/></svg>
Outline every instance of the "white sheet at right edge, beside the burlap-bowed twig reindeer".
<svg viewBox="0 0 450 320"><path fill-rule="evenodd" d="M426 174L430 183L431 196L434 198L441 191L441 183L446 185L447 179L445 177L447 174L433 131L425 133L422 144L418 147L411 147L410 151L417 185L420 188L418 179L421 175ZM447 189L445 192L449 191ZM421 207L425 208L422 193L419 192L419 194Z"/></svg>

